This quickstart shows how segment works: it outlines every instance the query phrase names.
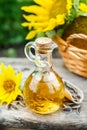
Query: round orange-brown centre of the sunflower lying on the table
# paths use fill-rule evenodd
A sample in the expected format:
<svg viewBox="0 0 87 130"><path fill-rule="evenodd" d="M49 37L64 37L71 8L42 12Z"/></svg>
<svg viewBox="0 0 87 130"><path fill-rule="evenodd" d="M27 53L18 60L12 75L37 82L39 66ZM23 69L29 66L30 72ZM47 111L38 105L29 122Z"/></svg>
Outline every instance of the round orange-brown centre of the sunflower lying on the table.
<svg viewBox="0 0 87 130"><path fill-rule="evenodd" d="M7 92L12 92L15 89L16 83L13 80L4 81L4 89Z"/></svg>

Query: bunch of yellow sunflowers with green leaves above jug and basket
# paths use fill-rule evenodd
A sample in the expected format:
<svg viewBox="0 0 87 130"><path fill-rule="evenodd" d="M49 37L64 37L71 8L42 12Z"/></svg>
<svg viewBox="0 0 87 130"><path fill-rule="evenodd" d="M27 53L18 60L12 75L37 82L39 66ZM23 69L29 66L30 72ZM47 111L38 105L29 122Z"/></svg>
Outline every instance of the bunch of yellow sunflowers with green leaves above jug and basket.
<svg viewBox="0 0 87 130"><path fill-rule="evenodd" d="M67 26L79 16L87 16L87 0L32 0L32 4L23 6L23 17L28 27L27 40L35 37L62 36Z"/></svg>

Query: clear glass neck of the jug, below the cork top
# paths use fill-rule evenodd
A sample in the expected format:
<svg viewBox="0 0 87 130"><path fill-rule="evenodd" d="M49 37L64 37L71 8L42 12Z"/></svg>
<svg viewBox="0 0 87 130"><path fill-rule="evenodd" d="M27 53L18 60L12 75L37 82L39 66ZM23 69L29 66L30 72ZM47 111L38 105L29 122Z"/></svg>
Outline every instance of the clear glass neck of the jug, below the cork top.
<svg viewBox="0 0 87 130"><path fill-rule="evenodd" d="M50 71L52 67L52 48L36 48L36 67L41 71Z"/></svg>

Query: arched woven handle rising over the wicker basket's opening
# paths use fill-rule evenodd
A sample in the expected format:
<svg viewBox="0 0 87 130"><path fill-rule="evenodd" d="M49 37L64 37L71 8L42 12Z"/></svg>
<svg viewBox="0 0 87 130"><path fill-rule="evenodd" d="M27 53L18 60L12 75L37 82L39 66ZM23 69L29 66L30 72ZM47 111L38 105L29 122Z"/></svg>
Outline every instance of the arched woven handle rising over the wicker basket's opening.
<svg viewBox="0 0 87 130"><path fill-rule="evenodd" d="M82 33L71 34L71 35L66 39L67 44L70 44L74 38L87 39L87 35L82 34Z"/></svg>

